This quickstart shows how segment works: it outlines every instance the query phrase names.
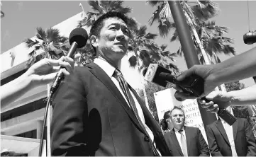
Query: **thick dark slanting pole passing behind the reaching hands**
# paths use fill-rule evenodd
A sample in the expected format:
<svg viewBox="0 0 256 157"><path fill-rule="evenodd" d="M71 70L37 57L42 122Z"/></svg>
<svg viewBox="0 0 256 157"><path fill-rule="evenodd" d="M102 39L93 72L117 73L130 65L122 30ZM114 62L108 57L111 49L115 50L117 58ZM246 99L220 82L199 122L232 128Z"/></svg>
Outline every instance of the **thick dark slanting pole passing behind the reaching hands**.
<svg viewBox="0 0 256 157"><path fill-rule="evenodd" d="M182 50L184 53L185 61L187 63L188 69L191 66L196 64L200 64L199 58L196 54L196 49L194 47L194 42L191 37L191 33L189 31L189 26L187 24L187 20L182 11L182 6L179 1L168 1L169 8L172 12L172 17L174 19L174 23L176 25L177 32L179 34L179 41L182 45ZM207 112L204 108L199 105L199 110L201 113L201 118L204 123L204 128L208 124L216 121L216 115Z"/></svg>

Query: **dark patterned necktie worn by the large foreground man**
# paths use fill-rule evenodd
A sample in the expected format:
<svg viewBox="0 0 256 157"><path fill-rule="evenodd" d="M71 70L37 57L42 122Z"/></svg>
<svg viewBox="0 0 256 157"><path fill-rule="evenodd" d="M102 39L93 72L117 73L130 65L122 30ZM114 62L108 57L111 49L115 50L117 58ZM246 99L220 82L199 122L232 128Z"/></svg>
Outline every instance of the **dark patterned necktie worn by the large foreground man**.
<svg viewBox="0 0 256 157"><path fill-rule="evenodd" d="M140 126L144 129L144 132L148 135L148 132L146 131L143 122L140 120L137 107L136 107L135 102L133 100L133 96L130 94L128 83L123 78L123 75L122 75L121 71L119 71L118 69L115 69L115 71L113 73L113 77L116 78L116 80L118 81L118 83L119 83L119 85L120 85L124 95L126 96L126 100L128 100L128 103L129 103L130 107L132 108L132 110L133 110L133 112L134 112L138 122L140 123ZM149 136L149 139L150 139L150 136ZM159 153L157 153L157 149L153 145L151 139L150 139L150 145L152 147L154 155L155 156L160 156Z"/></svg>

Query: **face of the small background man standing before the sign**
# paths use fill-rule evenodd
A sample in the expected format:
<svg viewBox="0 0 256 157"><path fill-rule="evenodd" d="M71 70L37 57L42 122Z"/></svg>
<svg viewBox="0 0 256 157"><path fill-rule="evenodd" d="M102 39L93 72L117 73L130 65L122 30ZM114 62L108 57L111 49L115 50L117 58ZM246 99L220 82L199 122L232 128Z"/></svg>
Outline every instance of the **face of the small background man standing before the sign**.
<svg viewBox="0 0 256 157"><path fill-rule="evenodd" d="M172 110L171 116L172 123L176 129L184 127L185 117L182 110Z"/></svg>

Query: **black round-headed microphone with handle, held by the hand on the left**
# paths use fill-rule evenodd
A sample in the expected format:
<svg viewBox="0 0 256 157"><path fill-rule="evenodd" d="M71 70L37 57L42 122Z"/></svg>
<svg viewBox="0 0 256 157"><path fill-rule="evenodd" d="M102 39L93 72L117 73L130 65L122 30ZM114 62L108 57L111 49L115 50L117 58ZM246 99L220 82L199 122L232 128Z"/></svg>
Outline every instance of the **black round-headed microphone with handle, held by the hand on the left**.
<svg viewBox="0 0 256 157"><path fill-rule="evenodd" d="M87 30L84 28L75 28L69 35L69 44L71 45L67 57L73 57L74 52L77 48L84 47L87 44L88 34ZM55 93L57 88L60 86L60 82L64 79L65 75L62 73L63 67L60 67L60 71L57 72L54 81L52 82L52 87L50 88L50 93Z"/></svg>

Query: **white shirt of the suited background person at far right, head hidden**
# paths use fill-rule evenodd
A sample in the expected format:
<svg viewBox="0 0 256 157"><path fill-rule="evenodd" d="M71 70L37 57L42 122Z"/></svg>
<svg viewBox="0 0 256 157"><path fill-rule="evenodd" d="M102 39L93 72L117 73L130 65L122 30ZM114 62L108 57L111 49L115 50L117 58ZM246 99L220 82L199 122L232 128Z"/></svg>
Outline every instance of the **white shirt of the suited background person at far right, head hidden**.
<svg viewBox="0 0 256 157"><path fill-rule="evenodd" d="M233 111L231 109L231 112L230 112L232 115L233 115ZM231 146L231 152L232 152L232 156L238 156L238 154L236 153L236 150L235 150L235 141L234 141L234 135L233 135L233 126L229 125L227 122L225 122L221 117L221 122L223 124L223 127L225 129L225 132L228 136L228 141L229 141L229 144Z"/></svg>

